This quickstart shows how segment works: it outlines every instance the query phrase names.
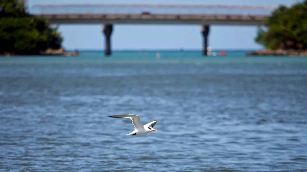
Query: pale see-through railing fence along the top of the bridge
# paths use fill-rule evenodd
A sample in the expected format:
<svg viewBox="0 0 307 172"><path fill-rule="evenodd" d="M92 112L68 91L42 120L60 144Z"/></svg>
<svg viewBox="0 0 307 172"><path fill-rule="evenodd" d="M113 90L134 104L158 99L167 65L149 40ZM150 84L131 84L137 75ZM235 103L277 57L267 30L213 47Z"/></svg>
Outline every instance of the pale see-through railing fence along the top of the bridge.
<svg viewBox="0 0 307 172"><path fill-rule="evenodd" d="M33 14L221 14L221 15L270 15L276 6L238 5L107 5L69 4L34 5Z"/></svg>

